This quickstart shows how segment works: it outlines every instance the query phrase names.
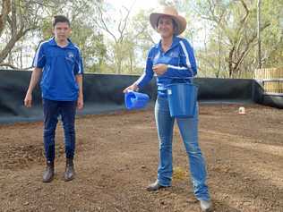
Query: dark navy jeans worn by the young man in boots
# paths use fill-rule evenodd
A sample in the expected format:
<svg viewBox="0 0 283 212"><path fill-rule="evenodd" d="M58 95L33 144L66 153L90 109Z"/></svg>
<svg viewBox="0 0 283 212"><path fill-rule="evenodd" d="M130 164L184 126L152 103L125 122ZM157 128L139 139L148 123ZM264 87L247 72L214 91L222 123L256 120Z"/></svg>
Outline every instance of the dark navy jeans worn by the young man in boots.
<svg viewBox="0 0 283 212"><path fill-rule="evenodd" d="M74 119L76 101L53 101L43 99L44 112L44 148L47 161L55 159L55 137L58 116L61 115L64 127L64 146L67 158L73 158L75 148Z"/></svg>

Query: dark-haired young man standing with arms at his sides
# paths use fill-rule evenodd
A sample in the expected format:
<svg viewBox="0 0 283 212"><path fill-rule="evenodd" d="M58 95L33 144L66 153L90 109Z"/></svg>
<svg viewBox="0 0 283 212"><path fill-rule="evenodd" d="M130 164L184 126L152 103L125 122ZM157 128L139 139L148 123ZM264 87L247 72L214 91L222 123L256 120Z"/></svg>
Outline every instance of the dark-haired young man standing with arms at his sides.
<svg viewBox="0 0 283 212"><path fill-rule="evenodd" d="M57 15L53 21L54 38L41 43L33 60L34 70L30 86L24 99L24 105L32 104L32 90L39 79L44 110L44 148L47 168L43 182L54 178L55 137L58 116L61 115L64 126L64 144L66 167L64 181L74 177L73 157L75 149L74 120L76 107L83 107L82 74L83 66L78 47L69 36L70 21L63 15Z"/></svg>

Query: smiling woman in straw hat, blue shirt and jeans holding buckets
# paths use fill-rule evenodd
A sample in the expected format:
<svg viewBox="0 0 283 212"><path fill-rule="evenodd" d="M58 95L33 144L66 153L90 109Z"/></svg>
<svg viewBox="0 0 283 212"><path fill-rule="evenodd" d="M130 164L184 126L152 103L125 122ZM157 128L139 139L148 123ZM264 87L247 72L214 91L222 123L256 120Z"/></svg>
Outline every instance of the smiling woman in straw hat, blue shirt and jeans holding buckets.
<svg viewBox="0 0 283 212"><path fill-rule="evenodd" d="M148 191L158 191L171 186L172 180L172 137L175 118L169 113L167 85L191 82L197 73L193 48L185 38L179 38L186 27L184 17L173 7L164 7L161 13L150 14L150 24L161 36L159 44L151 47L145 72L131 86L124 89L138 90L157 76L158 98L155 119L159 134L159 169L157 181L150 184ZM200 200L202 211L211 210L210 194L206 185L205 162L198 144L198 108L193 118L176 118L190 161L194 194Z"/></svg>

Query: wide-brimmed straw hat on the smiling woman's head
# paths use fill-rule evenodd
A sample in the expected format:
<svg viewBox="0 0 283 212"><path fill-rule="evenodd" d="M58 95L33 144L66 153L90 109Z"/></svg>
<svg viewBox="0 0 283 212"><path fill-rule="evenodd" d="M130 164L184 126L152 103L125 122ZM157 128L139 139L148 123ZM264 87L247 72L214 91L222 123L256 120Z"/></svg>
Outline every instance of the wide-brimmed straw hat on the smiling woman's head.
<svg viewBox="0 0 283 212"><path fill-rule="evenodd" d="M157 30L159 18L163 15L167 15L176 21L177 29L175 31L176 35L180 35L186 27L186 21L183 16L178 15L176 9L172 6L165 6L160 13L150 14L150 24L154 30Z"/></svg>

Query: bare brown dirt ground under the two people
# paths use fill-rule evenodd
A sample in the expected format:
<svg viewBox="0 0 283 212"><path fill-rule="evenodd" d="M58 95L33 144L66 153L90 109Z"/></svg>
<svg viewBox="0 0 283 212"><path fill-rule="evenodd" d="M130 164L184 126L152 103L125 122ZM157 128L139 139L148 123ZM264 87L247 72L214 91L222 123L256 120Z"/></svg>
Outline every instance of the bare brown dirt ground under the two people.
<svg viewBox="0 0 283 212"><path fill-rule="evenodd" d="M201 105L200 145L214 211L283 211L283 113L248 105ZM187 157L175 128L173 185L148 192L159 141L152 108L77 119L76 179L64 182L57 128L56 177L45 167L42 123L0 125L0 211L197 212Z"/></svg>

